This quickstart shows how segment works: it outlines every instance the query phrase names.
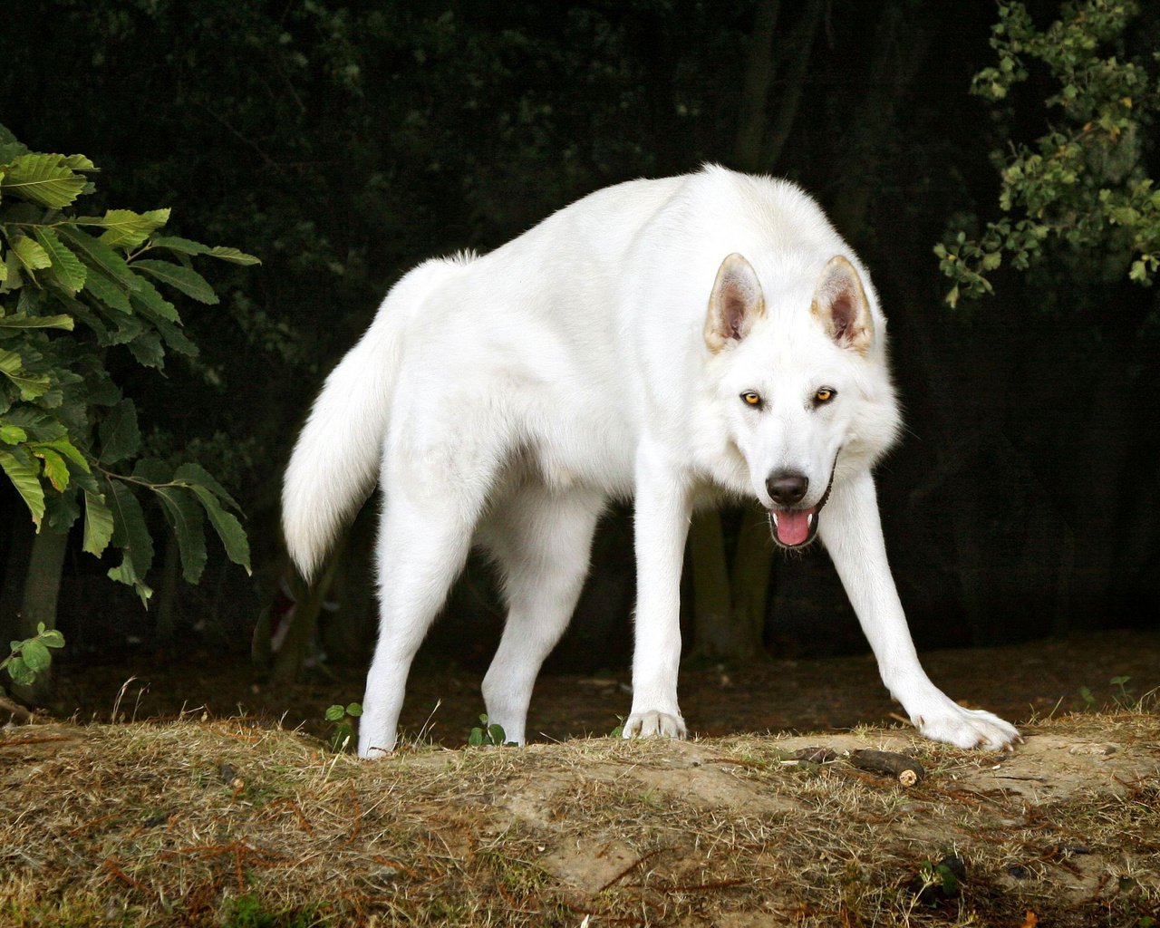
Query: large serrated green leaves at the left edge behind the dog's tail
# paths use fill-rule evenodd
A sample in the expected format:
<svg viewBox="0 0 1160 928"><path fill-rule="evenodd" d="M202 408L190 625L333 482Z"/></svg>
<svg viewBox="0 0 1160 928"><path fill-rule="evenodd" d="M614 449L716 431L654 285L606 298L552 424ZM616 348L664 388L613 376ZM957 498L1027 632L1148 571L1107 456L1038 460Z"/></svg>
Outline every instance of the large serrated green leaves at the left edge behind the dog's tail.
<svg viewBox="0 0 1160 928"><path fill-rule="evenodd" d="M205 519L247 571L248 542L227 512L238 505L204 467L140 457L137 406L110 367L161 370L167 350L195 355L159 285L212 305L193 259L258 259L161 235L167 209L78 213L94 173L85 155L29 152L0 126L0 467L37 531L68 531L84 505L84 550L119 549L109 577L145 602L153 539L139 494L160 505L191 583L206 561Z"/></svg>

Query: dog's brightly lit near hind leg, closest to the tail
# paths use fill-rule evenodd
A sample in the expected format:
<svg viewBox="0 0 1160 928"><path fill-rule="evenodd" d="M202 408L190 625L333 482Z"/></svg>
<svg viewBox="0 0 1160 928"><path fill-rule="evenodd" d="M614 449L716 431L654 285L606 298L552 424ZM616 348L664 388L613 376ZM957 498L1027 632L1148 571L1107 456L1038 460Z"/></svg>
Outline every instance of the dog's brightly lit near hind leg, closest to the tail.
<svg viewBox="0 0 1160 928"><path fill-rule="evenodd" d="M358 755L376 757L394 748L399 710L411 662L463 570L476 521L484 508L494 466L480 465L471 479L463 466L494 459L462 454L459 473L427 466L408 451L384 469L386 503L377 561L379 636L367 674L358 725ZM391 470L391 472L386 472Z"/></svg>

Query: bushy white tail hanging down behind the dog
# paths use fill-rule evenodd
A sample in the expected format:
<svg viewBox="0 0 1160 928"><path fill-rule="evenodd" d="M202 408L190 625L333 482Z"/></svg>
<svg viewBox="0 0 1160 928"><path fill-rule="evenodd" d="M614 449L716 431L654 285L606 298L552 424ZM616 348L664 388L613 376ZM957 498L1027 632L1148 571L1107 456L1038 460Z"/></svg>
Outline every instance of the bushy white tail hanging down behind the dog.
<svg viewBox="0 0 1160 928"><path fill-rule="evenodd" d="M400 280L314 400L282 484L287 549L307 580L375 490L399 368L399 333L452 267L450 261L428 261Z"/></svg>

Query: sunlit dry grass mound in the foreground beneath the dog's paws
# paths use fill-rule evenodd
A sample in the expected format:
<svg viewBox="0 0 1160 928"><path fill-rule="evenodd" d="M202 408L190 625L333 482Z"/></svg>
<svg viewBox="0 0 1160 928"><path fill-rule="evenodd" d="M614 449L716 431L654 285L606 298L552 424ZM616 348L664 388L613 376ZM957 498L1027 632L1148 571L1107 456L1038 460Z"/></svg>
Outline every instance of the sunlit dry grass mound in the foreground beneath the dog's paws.
<svg viewBox="0 0 1160 928"><path fill-rule="evenodd" d="M246 719L10 728L0 925L1145 928L1160 718L1027 734L1006 756L858 730L364 763ZM907 751L928 775L785 762L810 744Z"/></svg>

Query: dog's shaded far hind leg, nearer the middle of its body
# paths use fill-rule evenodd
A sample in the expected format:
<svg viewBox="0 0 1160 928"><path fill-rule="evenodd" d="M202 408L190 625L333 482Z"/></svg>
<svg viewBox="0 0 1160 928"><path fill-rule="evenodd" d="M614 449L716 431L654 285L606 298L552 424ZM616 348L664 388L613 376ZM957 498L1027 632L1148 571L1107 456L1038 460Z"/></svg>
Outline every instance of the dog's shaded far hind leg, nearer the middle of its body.
<svg viewBox="0 0 1160 928"><path fill-rule="evenodd" d="M503 571L508 615L484 677L490 723L509 741L524 742L536 675L567 628L588 573L601 496L522 487L481 527L480 541Z"/></svg>

